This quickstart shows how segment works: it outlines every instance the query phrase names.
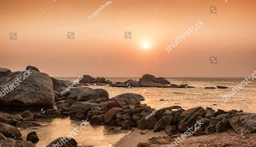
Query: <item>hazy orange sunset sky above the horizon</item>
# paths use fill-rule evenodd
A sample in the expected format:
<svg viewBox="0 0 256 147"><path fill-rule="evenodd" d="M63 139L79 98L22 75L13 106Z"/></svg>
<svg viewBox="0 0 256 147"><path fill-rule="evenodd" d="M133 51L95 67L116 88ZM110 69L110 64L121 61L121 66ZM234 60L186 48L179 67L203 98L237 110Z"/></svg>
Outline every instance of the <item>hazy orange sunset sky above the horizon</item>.
<svg viewBox="0 0 256 147"><path fill-rule="evenodd" d="M106 2L0 0L0 67L33 65L52 77L247 77L256 70L256 0L111 0L90 20ZM201 19L205 24L167 53L167 44Z"/></svg>

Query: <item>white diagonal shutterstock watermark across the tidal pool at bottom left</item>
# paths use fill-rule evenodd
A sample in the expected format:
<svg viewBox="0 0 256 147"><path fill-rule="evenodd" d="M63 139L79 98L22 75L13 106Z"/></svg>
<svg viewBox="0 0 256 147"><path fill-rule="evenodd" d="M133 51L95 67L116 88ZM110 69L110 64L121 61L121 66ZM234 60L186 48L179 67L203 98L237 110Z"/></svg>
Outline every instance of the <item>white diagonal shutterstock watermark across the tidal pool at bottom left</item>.
<svg viewBox="0 0 256 147"><path fill-rule="evenodd" d="M88 122L84 122L82 120L82 123L80 123L80 131L87 125L89 124ZM79 129L79 126L77 126L76 128L73 129L72 132L70 132L70 134L68 134L66 137L61 138L61 141L57 142L57 144L53 144L53 147L62 147L64 145L64 143L68 142L68 140L70 140L71 138L73 138L74 136L76 136L77 133L79 133L79 131L77 131ZM71 135L73 134L73 135ZM68 139L68 140L67 140ZM65 142L66 141L66 142Z"/></svg>

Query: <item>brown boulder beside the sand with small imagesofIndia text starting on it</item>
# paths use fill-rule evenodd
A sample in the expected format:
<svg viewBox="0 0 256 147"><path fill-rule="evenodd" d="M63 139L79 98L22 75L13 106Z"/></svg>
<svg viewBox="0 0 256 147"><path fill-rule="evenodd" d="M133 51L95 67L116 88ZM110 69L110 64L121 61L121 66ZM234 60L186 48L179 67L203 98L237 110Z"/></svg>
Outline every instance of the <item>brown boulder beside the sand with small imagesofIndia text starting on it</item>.
<svg viewBox="0 0 256 147"><path fill-rule="evenodd" d="M146 118L148 115L150 117ZM155 118L155 116L148 112L138 121L138 129L154 129L157 122L158 120Z"/></svg>

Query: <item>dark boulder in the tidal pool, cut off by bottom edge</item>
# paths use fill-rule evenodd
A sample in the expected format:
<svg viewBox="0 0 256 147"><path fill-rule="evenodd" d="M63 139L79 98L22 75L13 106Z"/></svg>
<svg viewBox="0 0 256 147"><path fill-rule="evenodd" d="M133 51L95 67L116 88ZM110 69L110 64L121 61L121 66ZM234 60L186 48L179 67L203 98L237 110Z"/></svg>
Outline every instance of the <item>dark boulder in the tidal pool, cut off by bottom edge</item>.
<svg viewBox="0 0 256 147"><path fill-rule="evenodd" d="M68 140L68 141L65 141L65 140ZM77 142L75 141L75 139L72 139L70 135L67 135L65 139L63 137L63 138L57 138L53 140L46 147L77 147Z"/></svg>

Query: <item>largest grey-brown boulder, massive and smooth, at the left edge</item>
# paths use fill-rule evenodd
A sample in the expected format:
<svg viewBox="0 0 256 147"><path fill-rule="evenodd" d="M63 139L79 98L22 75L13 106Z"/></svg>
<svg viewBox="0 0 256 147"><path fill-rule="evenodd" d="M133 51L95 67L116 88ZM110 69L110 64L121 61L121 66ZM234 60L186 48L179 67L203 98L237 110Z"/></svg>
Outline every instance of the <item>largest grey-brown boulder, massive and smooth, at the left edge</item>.
<svg viewBox="0 0 256 147"><path fill-rule="evenodd" d="M28 75L29 74L29 75ZM24 75L27 77L25 78ZM11 91L1 88L4 96L0 98L2 108L6 109L38 109L53 108L55 102L53 82L49 75L34 70L18 73L17 78L3 85ZM14 83L14 84L13 84ZM15 84L16 83L16 84ZM10 87L15 85L15 87Z"/></svg>

